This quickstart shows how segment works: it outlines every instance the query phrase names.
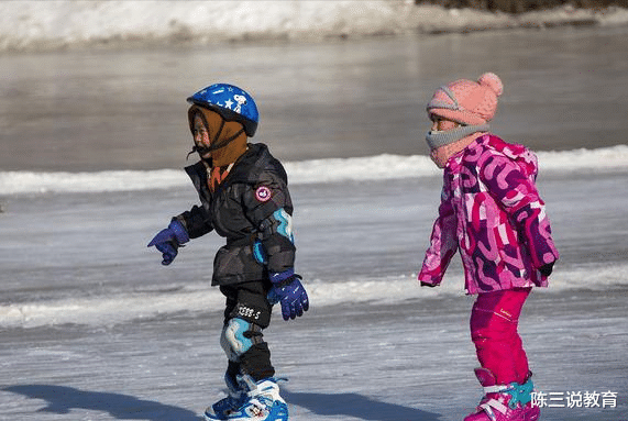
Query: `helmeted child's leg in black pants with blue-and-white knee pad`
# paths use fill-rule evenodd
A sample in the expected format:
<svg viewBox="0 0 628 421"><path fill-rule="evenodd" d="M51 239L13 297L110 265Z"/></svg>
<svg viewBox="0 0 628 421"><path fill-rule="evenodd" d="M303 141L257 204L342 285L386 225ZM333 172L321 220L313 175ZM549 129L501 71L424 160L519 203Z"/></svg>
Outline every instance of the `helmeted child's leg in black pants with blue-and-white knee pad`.
<svg viewBox="0 0 628 421"><path fill-rule="evenodd" d="M271 322L272 307L262 281L221 287L227 297L224 329L220 343L229 357L227 375L249 375L254 381L273 377L271 351L263 330Z"/></svg>

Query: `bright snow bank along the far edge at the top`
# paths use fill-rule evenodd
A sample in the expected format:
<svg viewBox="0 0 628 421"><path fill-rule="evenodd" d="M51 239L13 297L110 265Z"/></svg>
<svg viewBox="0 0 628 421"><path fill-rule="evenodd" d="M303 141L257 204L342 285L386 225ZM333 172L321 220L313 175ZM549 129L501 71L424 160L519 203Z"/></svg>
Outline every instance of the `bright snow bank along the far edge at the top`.
<svg viewBox="0 0 628 421"><path fill-rule="evenodd" d="M565 7L514 16L412 0L26 0L0 2L0 52L627 22L628 11L617 8Z"/></svg>

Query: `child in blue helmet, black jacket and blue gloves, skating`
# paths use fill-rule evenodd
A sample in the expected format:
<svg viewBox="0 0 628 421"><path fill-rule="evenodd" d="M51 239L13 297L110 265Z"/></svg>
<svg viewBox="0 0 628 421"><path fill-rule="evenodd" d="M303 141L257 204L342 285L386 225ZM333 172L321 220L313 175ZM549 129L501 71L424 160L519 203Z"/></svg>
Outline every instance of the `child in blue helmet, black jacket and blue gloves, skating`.
<svg viewBox="0 0 628 421"><path fill-rule="evenodd" d="M293 203L282 164L264 144L250 144L258 123L257 107L244 90L211 85L187 99L191 153L200 160L186 168L200 206L172 219L148 246L164 265L178 247L214 230L227 239L216 254L212 285L227 298L220 344L229 363L229 396L207 408L207 420L287 420L263 330L274 303L284 320L309 308L295 274Z"/></svg>

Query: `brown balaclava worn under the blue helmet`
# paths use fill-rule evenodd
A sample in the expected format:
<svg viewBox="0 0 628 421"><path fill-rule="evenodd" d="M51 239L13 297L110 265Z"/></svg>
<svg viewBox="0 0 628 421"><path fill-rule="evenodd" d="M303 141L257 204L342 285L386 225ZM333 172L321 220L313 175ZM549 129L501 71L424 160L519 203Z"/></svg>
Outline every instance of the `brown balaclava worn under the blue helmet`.
<svg viewBox="0 0 628 421"><path fill-rule="evenodd" d="M224 146L201 156L203 159L211 158L212 167L229 166L246 152L247 137L242 124L236 121L225 121L219 113L209 109L191 106L188 110L188 122L192 136L196 115L200 117L209 135L209 145L196 145L197 147L210 147L221 142L228 142Z"/></svg>

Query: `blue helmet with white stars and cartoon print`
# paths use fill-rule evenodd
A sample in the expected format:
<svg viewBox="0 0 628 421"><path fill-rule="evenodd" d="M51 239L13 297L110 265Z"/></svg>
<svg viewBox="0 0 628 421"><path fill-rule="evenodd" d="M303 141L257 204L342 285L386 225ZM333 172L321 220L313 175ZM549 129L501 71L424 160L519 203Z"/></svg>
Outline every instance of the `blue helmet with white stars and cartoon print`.
<svg viewBox="0 0 628 421"><path fill-rule="evenodd" d="M253 98L243 89L228 84L213 84L187 99L189 103L218 112L227 121L236 121L253 137L260 113Z"/></svg>

